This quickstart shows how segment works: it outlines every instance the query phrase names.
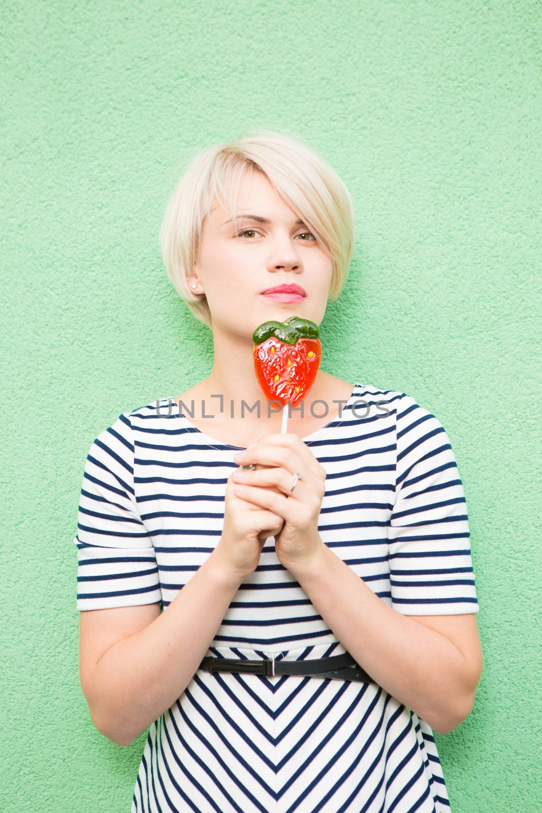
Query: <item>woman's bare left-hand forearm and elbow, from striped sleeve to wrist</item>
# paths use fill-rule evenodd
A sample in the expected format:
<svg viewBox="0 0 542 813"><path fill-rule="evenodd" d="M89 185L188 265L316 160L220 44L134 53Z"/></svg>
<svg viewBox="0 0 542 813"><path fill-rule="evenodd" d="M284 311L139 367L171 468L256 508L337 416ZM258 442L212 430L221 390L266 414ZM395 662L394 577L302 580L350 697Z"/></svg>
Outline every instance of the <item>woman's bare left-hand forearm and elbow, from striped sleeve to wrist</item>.
<svg viewBox="0 0 542 813"><path fill-rule="evenodd" d="M161 614L158 604L80 612L81 688L94 725L117 745L189 685L241 583L225 565L215 548Z"/></svg>

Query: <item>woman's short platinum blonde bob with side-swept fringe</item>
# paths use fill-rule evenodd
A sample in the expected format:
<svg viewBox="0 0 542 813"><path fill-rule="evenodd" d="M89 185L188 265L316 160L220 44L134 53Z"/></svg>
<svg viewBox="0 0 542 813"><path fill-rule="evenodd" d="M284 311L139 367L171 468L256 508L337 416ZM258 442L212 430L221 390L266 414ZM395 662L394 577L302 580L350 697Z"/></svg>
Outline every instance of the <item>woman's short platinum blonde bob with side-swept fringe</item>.
<svg viewBox="0 0 542 813"><path fill-rule="evenodd" d="M354 214L344 182L301 141L270 130L241 133L234 141L195 155L171 193L159 234L163 263L172 285L193 315L209 327L211 316L206 297L193 293L189 287L203 223L218 201L236 225L239 181L253 169L267 176L275 192L310 228L332 259L330 299L339 296L348 276Z"/></svg>

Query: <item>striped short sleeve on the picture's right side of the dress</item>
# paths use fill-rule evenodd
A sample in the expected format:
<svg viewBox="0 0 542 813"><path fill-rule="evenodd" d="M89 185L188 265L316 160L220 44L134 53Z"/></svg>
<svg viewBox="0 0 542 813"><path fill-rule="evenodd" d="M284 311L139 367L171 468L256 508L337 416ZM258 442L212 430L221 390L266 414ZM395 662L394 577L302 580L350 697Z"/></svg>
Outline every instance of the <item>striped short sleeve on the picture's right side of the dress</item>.
<svg viewBox="0 0 542 813"><path fill-rule="evenodd" d="M449 437L414 398L402 393L397 403L392 607L403 615L478 612L465 493Z"/></svg>

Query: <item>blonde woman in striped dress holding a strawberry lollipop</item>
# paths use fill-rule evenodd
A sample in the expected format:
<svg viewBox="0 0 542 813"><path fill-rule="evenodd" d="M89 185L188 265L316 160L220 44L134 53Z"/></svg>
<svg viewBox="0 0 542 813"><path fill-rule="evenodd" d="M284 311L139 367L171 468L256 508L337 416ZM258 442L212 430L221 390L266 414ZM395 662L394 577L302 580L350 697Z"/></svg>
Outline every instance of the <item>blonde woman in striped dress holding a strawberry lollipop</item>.
<svg viewBox="0 0 542 813"><path fill-rule="evenodd" d="M196 156L162 246L213 367L96 438L74 540L93 723L119 745L150 726L132 813L449 810L431 728L466 718L482 670L449 438L323 370L281 433L254 375L254 329L320 324L345 283L345 185L249 134Z"/></svg>

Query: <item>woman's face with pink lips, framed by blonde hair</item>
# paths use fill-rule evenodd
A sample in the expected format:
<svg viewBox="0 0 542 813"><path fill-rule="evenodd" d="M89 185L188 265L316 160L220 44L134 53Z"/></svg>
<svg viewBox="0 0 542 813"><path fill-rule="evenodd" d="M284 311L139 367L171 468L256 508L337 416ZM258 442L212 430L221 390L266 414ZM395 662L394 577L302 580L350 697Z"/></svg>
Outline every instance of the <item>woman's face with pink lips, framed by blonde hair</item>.
<svg viewBox="0 0 542 813"><path fill-rule="evenodd" d="M320 324L332 281L332 260L316 237L271 187L253 171L242 178L236 200L237 231L219 205L204 221L200 257L194 267L209 304L213 328L252 337L262 322L300 316ZM241 215L257 215L261 223ZM276 285L299 285L304 295L272 297ZM289 301L288 301L289 299Z"/></svg>

